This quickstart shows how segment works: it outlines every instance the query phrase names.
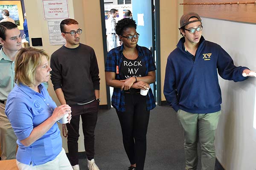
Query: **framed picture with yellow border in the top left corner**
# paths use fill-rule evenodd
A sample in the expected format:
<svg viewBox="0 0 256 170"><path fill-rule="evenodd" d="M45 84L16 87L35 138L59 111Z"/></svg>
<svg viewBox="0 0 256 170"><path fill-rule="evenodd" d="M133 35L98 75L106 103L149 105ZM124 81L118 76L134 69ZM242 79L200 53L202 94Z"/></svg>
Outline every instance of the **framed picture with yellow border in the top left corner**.
<svg viewBox="0 0 256 170"><path fill-rule="evenodd" d="M23 13L20 0L1 0L0 1L0 20L3 20L2 11L7 9L10 18L15 21L15 24L20 30L23 30Z"/></svg>

